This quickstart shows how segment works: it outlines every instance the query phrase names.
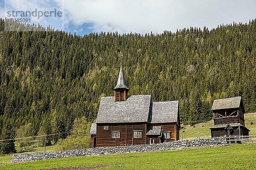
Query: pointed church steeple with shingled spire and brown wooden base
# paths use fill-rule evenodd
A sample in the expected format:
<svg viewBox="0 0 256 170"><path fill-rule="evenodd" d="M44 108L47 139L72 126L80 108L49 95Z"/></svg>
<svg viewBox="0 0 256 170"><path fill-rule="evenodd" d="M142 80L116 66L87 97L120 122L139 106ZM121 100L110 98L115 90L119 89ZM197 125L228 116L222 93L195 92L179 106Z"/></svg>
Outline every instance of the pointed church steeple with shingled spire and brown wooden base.
<svg viewBox="0 0 256 170"><path fill-rule="evenodd" d="M125 79L122 72L122 62L121 62L117 84L113 90L114 90L115 102L126 101L126 96L128 94L129 88L125 85Z"/></svg>

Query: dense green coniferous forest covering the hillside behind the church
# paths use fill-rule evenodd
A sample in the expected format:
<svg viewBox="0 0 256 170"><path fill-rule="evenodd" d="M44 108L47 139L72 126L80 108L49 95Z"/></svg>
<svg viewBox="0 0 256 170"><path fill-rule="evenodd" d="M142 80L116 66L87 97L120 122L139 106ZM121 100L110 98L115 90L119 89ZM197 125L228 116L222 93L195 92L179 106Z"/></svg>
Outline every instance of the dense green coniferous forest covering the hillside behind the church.
<svg viewBox="0 0 256 170"><path fill-rule="evenodd" d="M212 119L213 100L225 97L242 96L245 111L256 111L256 20L212 30L84 36L21 23L13 24L25 31L5 31L5 22L0 139L14 138L20 127L24 136L62 138L76 118L93 122L100 98L113 96L121 57L128 94L179 100L183 124Z"/></svg>

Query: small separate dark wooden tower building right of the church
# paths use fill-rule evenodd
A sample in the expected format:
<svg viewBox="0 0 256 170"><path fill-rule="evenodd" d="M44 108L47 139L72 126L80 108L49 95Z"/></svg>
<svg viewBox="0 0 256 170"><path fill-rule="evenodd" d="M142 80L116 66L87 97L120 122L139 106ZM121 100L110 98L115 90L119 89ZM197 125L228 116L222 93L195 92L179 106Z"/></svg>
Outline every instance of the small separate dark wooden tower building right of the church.
<svg viewBox="0 0 256 170"><path fill-rule="evenodd" d="M244 124L244 105L241 96L215 99L212 104L214 125L210 127L211 137L249 136L250 130Z"/></svg>

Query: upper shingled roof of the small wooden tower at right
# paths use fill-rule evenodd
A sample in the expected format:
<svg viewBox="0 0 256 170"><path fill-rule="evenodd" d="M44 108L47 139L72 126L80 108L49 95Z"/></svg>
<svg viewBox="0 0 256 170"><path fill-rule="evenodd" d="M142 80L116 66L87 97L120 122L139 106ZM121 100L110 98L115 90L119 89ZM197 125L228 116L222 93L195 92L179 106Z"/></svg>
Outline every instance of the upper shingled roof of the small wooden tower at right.
<svg viewBox="0 0 256 170"><path fill-rule="evenodd" d="M239 108L241 96L227 99L216 99L212 104L212 110Z"/></svg>

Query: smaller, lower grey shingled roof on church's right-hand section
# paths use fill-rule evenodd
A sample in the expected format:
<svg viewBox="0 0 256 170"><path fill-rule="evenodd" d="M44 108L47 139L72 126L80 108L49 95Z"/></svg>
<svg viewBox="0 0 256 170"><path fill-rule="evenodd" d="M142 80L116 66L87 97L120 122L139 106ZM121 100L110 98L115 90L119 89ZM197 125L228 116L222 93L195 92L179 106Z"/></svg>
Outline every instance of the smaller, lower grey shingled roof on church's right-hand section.
<svg viewBox="0 0 256 170"><path fill-rule="evenodd" d="M179 101L153 102L148 123L177 122Z"/></svg>

